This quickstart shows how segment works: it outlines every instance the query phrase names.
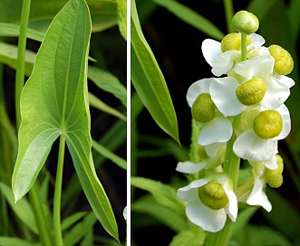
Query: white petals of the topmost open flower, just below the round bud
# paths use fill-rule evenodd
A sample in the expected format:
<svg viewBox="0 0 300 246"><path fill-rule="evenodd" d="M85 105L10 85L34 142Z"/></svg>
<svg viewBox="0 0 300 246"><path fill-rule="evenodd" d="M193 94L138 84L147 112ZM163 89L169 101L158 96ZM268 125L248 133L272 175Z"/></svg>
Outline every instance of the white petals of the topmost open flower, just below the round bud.
<svg viewBox="0 0 300 246"><path fill-rule="evenodd" d="M264 38L256 33L252 33L250 38L252 43L247 46L249 54L259 49L265 43ZM215 76L227 73L227 71L233 68L235 62L241 59L240 51L222 52L221 43L212 39L204 40L201 49L205 60L212 67L211 71Z"/></svg>

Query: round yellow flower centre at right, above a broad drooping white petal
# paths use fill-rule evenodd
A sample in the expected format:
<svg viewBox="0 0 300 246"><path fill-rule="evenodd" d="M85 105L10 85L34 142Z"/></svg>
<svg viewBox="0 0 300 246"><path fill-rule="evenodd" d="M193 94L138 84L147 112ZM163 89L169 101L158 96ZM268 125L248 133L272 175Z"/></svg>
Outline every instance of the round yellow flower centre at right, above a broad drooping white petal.
<svg viewBox="0 0 300 246"><path fill-rule="evenodd" d="M262 111L254 119L253 128L259 137L276 137L282 131L283 119L276 110Z"/></svg>

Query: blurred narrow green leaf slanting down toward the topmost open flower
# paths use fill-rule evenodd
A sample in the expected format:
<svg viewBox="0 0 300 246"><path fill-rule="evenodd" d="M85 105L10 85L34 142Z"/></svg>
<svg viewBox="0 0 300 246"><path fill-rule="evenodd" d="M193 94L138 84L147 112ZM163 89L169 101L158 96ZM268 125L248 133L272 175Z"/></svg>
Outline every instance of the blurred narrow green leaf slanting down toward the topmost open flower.
<svg viewBox="0 0 300 246"><path fill-rule="evenodd" d="M202 15L198 14L189 7L181 5L179 2L176 2L174 0L152 1L160 6L167 8L170 13L178 16L179 19L181 19L185 23L196 27L198 30L208 34L208 36L214 39L221 40L225 36L224 33L222 33L216 25L208 21L208 19L204 18Z"/></svg>

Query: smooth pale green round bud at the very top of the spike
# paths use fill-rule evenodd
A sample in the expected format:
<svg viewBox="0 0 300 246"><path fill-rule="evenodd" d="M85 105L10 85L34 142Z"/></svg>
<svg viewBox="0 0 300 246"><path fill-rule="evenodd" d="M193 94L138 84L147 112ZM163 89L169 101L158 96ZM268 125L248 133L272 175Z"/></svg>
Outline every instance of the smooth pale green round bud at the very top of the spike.
<svg viewBox="0 0 300 246"><path fill-rule="evenodd" d="M255 33L259 26L259 21L256 15L241 10L237 12L232 18L233 28L239 33L251 34Z"/></svg>

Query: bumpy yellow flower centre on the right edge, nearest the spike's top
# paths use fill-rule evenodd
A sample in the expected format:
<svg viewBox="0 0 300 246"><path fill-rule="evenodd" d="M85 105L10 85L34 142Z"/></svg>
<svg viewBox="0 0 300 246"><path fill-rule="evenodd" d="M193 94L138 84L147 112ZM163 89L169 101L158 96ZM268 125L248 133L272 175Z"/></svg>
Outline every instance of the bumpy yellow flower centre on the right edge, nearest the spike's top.
<svg viewBox="0 0 300 246"><path fill-rule="evenodd" d="M268 50L275 59L274 70L277 73L286 75L293 71L294 61L289 52L285 51L284 48L276 44L271 45Z"/></svg>

